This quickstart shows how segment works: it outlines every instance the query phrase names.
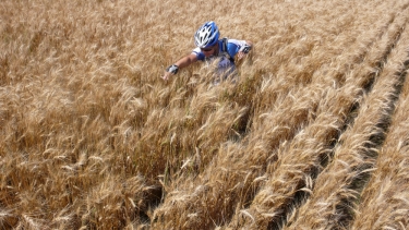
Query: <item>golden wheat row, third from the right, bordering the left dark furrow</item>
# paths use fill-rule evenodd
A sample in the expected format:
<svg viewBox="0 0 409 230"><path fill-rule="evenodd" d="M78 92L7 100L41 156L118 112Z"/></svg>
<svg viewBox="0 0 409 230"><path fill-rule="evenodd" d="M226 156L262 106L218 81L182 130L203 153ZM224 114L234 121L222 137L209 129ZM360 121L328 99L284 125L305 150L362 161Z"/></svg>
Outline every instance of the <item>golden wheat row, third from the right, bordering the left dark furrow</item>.
<svg viewBox="0 0 409 230"><path fill-rule="evenodd" d="M267 170L265 178L268 180L264 187L250 208L240 211L233 226L279 229L291 210L297 208L300 202L297 197L310 193L313 179L322 170L321 161L333 152L332 143L338 138L350 109L362 99L364 88L371 87L376 76L373 70L382 71L380 62L387 60L407 19L400 14L395 21L372 47L364 62L347 75L345 85L338 90L328 89L315 121L297 134L292 142L281 145L278 160Z"/></svg>

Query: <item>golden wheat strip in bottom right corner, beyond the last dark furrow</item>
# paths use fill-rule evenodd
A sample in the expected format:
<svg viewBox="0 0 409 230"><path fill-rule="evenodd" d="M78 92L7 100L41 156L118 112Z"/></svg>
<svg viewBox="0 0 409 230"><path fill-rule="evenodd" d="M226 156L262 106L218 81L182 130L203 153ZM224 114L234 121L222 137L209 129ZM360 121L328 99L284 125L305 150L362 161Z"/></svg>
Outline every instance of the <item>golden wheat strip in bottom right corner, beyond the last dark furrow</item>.
<svg viewBox="0 0 409 230"><path fill-rule="evenodd" d="M399 52L399 70L406 81L392 117L390 131L382 146L375 170L361 194L362 203L356 207L352 229L406 229L408 228L407 175L408 175L408 28L402 35L406 41Z"/></svg>

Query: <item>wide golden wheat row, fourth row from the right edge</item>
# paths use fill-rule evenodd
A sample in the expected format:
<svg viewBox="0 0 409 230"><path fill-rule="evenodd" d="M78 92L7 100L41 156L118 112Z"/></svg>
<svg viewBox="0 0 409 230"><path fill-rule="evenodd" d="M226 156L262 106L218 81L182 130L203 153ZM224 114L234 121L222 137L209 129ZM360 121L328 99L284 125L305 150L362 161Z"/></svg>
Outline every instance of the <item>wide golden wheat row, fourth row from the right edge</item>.
<svg viewBox="0 0 409 230"><path fill-rule="evenodd" d="M384 22L381 24L380 27L385 25ZM384 31L378 31L380 27L366 31L371 36L365 36L362 40L349 46L349 57L354 57L354 62L357 60L365 61L368 56L365 49L373 43L372 39L376 38L376 35L384 34ZM356 64L351 63L351 60L340 59L340 61L345 62L339 62L339 65L349 65L349 69L345 70L347 73L342 76L345 80L341 81L350 86L354 83L348 82L348 71L358 69L360 62ZM329 66L328 69L332 70L332 68L338 69L339 66ZM339 75L326 75L323 81L282 95L282 98L277 100L279 105L272 111L258 114L258 119L255 119L256 123L253 124L252 134L246 140L239 144L226 143L219 149L213 164L195 181L188 179L180 185L173 185L176 187L173 192L170 192L165 203L155 210L153 227L189 229L228 223L236 207L239 210L236 211L237 215L251 202L254 191L264 180L261 180L261 177L266 171L266 165L274 164L278 159L280 150L277 148L280 143L291 140L299 130L316 119L326 124L332 123L332 118L328 120L321 114L323 110L320 109L320 105L323 104L323 98L336 98L324 102L326 104L324 106L328 108L332 108L332 104L335 104L336 100L340 100L340 102L347 100L347 105L340 109L341 111L334 111L337 114L347 113L349 101L356 100L356 98L350 98L350 95L359 95L361 88L346 87L342 86L344 83L334 86L334 82L338 82L336 77ZM344 88L341 96L337 96L340 90L337 89L338 87ZM321 118L316 113L321 114ZM342 124L342 122L336 121L333 126ZM318 124L311 129L320 130L322 125ZM329 136L336 136L338 128L328 132ZM328 136L328 132L321 134ZM327 142L333 142L333 138L328 138ZM322 148L326 148L326 146L322 146Z"/></svg>

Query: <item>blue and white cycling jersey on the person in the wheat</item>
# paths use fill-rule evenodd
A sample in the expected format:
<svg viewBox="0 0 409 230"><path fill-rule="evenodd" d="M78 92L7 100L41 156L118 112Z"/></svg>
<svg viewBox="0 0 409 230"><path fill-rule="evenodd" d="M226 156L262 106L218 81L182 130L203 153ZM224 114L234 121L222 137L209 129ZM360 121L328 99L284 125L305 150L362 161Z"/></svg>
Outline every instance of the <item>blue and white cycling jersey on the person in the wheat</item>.
<svg viewBox="0 0 409 230"><path fill-rule="evenodd" d="M245 45L245 40L227 39L226 50L224 50L224 40L219 39L219 52L217 56L208 58L202 52L201 48L193 49L192 53L196 55L197 60L206 61L210 64L214 60L218 59L217 73L224 74L224 78L236 70L234 56L239 52L240 48Z"/></svg>

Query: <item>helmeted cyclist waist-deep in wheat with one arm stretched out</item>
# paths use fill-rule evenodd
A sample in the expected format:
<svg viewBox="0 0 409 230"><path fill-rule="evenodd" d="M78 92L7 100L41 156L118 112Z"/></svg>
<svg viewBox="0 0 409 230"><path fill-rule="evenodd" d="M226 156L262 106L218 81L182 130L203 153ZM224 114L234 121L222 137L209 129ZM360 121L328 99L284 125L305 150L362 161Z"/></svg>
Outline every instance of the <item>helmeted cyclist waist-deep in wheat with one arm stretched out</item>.
<svg viewBox="0 0 409 230"><path fill-rule="evenodd" d="M169 80L180 69L196 61L204 61L208 65L215 64L216 75L219 78L226 80L228 76L237 75L234 57L242 59L252 49L253 44L250 40L219 39L219 36L220 33L215 22L210 21L203 24L194 34L196 48L190 55L168 66L163 78Z"/></svg>

